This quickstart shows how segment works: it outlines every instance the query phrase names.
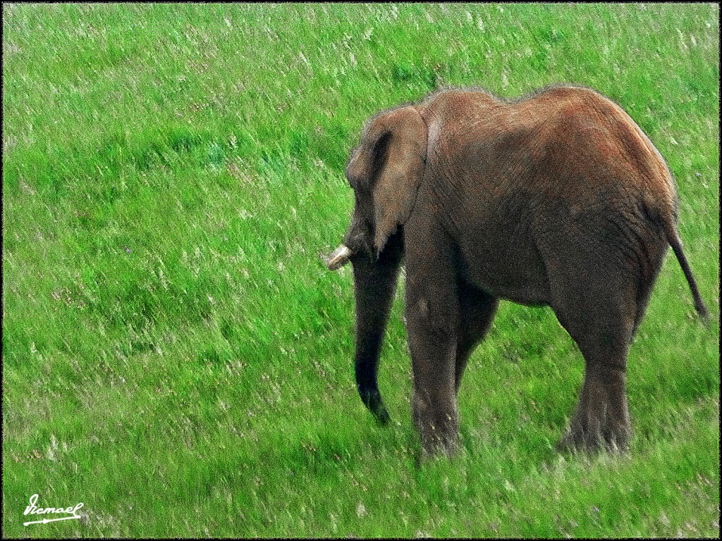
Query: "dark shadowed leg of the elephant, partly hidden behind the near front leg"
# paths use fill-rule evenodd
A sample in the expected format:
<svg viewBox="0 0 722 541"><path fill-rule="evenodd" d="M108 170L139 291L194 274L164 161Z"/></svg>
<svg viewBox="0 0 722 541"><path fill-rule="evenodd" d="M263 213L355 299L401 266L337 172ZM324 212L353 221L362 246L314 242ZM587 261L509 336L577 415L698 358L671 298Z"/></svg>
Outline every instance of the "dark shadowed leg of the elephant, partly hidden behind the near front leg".
<svg viewBox="0 0 722 541"><path fill-rule="evenodd" d="M458 286L459 332L456 343L456 392L474 348L494 320L499 299L465 282Z"/></svg>

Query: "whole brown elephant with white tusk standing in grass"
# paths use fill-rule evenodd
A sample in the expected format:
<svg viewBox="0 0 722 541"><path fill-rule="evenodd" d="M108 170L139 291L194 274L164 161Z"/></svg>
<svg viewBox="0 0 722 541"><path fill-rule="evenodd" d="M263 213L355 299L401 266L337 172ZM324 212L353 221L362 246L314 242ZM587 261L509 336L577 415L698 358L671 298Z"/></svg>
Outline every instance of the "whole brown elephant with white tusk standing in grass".
<svg viewBox="0 0 722 541"><path fill-rule="evenodd" d="M325 259L352 263L357 387L380 423L380 346L403 263L422 456L458 449L459 384L500 299L551 307L583 355L557 448L628 449L627 351L668 245L698 315L708 310L669 168L622 107L582 86L518 100L443 89L370 118L345 173L355 207Z"/></svg>

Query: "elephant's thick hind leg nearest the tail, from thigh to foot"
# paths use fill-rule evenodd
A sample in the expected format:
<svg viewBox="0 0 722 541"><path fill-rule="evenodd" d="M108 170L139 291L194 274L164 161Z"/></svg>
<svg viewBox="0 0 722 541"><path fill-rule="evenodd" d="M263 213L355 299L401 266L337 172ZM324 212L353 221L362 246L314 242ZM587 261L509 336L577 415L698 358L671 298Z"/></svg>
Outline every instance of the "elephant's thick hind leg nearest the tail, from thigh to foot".
<svg viewBox="0 0 722 541"><path fill-rule="evenodd" d="M545 258L549 304L586 362L577 409L560 447L624 449L631 435L627 352L666 241L649 224L621 214L590 216L573 231Z"/></svg>

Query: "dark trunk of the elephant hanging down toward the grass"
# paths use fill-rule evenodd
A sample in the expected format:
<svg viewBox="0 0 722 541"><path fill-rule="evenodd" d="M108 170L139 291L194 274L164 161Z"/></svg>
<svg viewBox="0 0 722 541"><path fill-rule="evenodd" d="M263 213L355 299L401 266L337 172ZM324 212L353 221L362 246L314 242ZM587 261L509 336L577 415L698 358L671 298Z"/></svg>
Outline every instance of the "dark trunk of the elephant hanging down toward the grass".
<svg viewBox="0 0 722 541"><path fill-rule="evenodd" d="M389 416L378 391L378 360L402 256L401 234L396 234L378 260L366 255L351 260L356 299L356 384L361 400L382 424L388 423Z"/></svg>

